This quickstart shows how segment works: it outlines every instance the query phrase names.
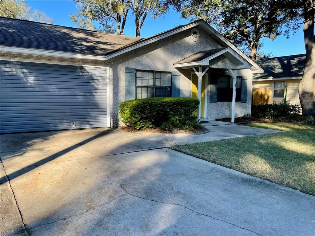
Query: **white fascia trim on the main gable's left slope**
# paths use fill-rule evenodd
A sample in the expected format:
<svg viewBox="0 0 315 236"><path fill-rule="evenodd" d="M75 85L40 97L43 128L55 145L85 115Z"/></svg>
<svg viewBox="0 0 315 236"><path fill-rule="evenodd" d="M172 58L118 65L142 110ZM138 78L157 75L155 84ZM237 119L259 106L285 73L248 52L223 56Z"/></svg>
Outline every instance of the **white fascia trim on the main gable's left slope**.
<svg viewBox="0 0 315 236"><path fill-rule="evenodd" d="M150 44L150 43L152 43L152 42L156 42L156 41L161 40L161 39L163 39L163 38L172 36L172 35L174 35L174 34L177 34L177 33L180 33L180 32L182 32L182 31L185 31L185 30L187 30L187 29L190 29L190 28L192 28L192 27L198 26L199 24L200 24L200 22L196 22L196 23L193 23L193 24L191 24L191 25L183 26L182 28L176 29L176 30L174 30L174 31L170 31L170 32L165 33L165 34L162 34L162 35L159 35L159 36L156 36L156 37L152 37L152 38L150 38L149 40L146 40L146 41L144 41L144 42L136 43L135 45L130 46L130 47L127 47L127 48L125 48L125 49L122 49L122 50L120 50L120 51L118 51L118 52L116 52L116 53L109 54L109 55L105 56L105 58L106 58L106 60L111 59L111 58L116 57L116 56L118 56L118 55L121 55L121 54L123 54L123 53L127 53L127 52L129 52L129 51L135 50L136 48L143 47L143 46L145 46L145 45L147 45L147 44Z"/></svg>

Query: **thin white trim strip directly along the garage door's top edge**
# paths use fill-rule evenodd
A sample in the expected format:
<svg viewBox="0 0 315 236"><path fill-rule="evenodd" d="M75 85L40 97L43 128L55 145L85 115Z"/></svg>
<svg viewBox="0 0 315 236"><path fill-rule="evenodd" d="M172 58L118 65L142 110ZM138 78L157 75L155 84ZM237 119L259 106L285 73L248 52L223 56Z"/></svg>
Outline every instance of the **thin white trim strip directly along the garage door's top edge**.
<svg viewBox="0 0 315 236"><path fill-rule="evenodd" d="M42 59L17 58L17 57L1 57L1 60L56 64L56 65L77 65L77 66L83 66L83 67L100 67L100 68L109 67L109 65L93 64L92 61L91 61L92 63L77 63L77 62L68 62L68 61L42 60Z"/></svg>

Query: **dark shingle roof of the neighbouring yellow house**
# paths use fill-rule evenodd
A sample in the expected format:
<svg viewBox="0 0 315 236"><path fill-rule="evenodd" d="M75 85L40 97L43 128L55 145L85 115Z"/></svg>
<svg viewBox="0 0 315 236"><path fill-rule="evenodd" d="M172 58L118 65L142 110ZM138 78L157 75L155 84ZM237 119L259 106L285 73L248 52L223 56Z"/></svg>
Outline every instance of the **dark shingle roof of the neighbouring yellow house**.
<svg viewBox="0 0 315 236"><path fill-rule="evenodd" d="M255 75L253 79L302 76L305 65L305 54L272 57L254 61L265 70L265 73Z"/></svg>

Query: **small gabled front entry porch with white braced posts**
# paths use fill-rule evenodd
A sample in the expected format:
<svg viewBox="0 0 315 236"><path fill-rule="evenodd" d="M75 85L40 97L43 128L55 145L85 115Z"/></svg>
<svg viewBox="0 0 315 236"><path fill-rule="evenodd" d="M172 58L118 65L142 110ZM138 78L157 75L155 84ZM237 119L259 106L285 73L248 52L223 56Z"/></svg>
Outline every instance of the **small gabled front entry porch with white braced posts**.
<svg viewBox="0 0 315 236"><path fill-rule="evenodd" d="M222 108L230 107L230 117L232 123L234 123L237 91L239 95L238 99L242 97L242 100L239 101L241 103L247 102L247 76L239 76L242 73L238 72L240 70L251 69L251 65L246 60L241 58L231 48L225 47L215 48L207 51L200 51L174 63L174 67L178 69L189 69L193 71L191 76L191 97L198 98L200 101L198 111L196 112L196 116L199 120L201 120L201 118L204 118L203 120L209 120L209 117L207 117L207 104L209 105L211 103L217 103L217 101L223 101L232 103L231 107L224 105L222 106ZM218 74L220 74L221 77L229 76L227 80L228 82L224 81L225 84L223 82L220 82L220 85L218 85ZM238 77L242 78L240 79ZM220 94L220 99L222 97L222 93L226 93L227 99L218 100L217 91L218 94ZM208 92L209 97L207 96ZM240 96L241 92L242 95Z"/></svg>

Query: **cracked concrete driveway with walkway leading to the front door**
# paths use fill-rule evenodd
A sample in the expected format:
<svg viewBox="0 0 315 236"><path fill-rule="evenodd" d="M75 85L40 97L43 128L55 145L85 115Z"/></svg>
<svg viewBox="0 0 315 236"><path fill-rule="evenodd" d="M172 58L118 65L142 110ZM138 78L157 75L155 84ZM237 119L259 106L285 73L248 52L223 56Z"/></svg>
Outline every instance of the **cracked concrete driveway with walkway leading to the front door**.
<svg viewBox="0 0 315 236"><path fill-rule="evenodd" d="M209 128L1 135L2 235L314 235L314 196L163 148L277 132Z"/></svg>

